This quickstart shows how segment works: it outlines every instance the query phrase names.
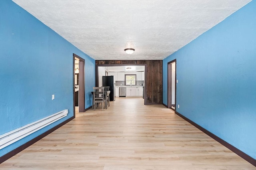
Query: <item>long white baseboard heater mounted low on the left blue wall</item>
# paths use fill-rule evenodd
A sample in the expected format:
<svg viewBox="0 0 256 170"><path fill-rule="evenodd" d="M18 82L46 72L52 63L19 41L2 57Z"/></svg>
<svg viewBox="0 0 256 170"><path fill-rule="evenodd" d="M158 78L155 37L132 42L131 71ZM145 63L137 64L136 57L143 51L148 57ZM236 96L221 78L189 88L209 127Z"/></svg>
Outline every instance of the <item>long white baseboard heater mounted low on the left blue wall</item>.
<svg viewBox="0 0 256 170"><path fill-rule="evenodd" d="M0 135L0 149L3 149L4 147L11 145L12 143L46 127L47 125L50 125L55 121L58 121L63 117L66 117L67 115L68 109L65 109L58 113L54 113L50 116L44 117L43 119L40 119L38 121L34 121L28 125L25 125L3 135Z"/></svg>

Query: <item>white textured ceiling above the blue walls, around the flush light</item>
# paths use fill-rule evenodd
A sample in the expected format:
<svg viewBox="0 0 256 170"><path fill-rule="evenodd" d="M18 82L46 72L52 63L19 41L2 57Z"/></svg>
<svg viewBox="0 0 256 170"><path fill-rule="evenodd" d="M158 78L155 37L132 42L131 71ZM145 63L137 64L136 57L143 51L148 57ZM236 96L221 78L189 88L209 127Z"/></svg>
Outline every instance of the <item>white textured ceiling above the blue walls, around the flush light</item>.
<svg viewBox="0 0 256 170"><path fill-rule="evenodd" d="M13 1L95 60L162 60L251 0Z"/></svg>

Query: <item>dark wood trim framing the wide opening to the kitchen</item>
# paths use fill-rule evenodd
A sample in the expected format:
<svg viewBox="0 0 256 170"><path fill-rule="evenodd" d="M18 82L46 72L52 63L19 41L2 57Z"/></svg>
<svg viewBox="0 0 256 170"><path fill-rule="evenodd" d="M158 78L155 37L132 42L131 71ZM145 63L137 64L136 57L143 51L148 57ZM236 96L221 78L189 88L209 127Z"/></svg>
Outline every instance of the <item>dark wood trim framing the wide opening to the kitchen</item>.
<svg viewBox="0 0 256 170"><path fill-rule="evenodd" d="M95 84L96 86L99 85L99 73L98 73L98 67L99 66L145 66L144 70L144 105L146 105L146 99L147 99L147 86L145 86L146 78L147 78L147 64L97 64L95 65Z"/></svg>

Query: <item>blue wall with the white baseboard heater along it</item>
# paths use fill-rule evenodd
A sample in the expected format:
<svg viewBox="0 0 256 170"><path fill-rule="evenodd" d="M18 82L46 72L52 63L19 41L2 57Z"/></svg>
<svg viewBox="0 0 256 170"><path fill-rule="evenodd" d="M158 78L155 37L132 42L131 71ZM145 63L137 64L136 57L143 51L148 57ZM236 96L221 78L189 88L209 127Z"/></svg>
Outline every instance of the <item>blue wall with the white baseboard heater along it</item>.
<svg viewBox="0 0 256 170"><path fill-rule="evenodd" d="M11 0L0 1L0 47L0 135L68 109L63 120L1 149L2 156L74 115L73 53L85 59L85 108L92 105L95 60Z"/></svg>

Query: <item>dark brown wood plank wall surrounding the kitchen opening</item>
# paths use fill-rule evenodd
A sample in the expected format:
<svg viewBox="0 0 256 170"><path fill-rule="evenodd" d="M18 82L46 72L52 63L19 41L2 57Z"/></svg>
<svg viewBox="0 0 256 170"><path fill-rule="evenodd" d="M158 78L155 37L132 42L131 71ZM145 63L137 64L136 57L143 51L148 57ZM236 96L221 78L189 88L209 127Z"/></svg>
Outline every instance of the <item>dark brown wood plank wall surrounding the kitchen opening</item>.
<svg viewBox="0 0 256 170"><path fill-rule="evenodd" d="M97 65L118 66L119 64L146 64L146 103L145 104L162 104L163 82L162 82L162 60L96 60ZM106 65L106 66L107 66ZM98 71L96 71L98 72ZM96 84L98 75L96 75Z"/></svg>

